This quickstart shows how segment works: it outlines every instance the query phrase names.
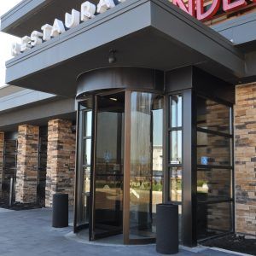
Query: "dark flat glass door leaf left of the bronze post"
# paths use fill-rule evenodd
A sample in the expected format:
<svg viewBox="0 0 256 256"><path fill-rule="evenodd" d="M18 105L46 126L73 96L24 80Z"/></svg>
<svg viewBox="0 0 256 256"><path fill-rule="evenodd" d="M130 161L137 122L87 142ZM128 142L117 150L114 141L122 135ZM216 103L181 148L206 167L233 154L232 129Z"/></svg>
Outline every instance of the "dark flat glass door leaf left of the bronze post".
<svg viewBox="0 0 256 256"><path fill-rule="evenodd" d="M96 107L91 240L123 231L125 92L96 96Z"/></svg>

